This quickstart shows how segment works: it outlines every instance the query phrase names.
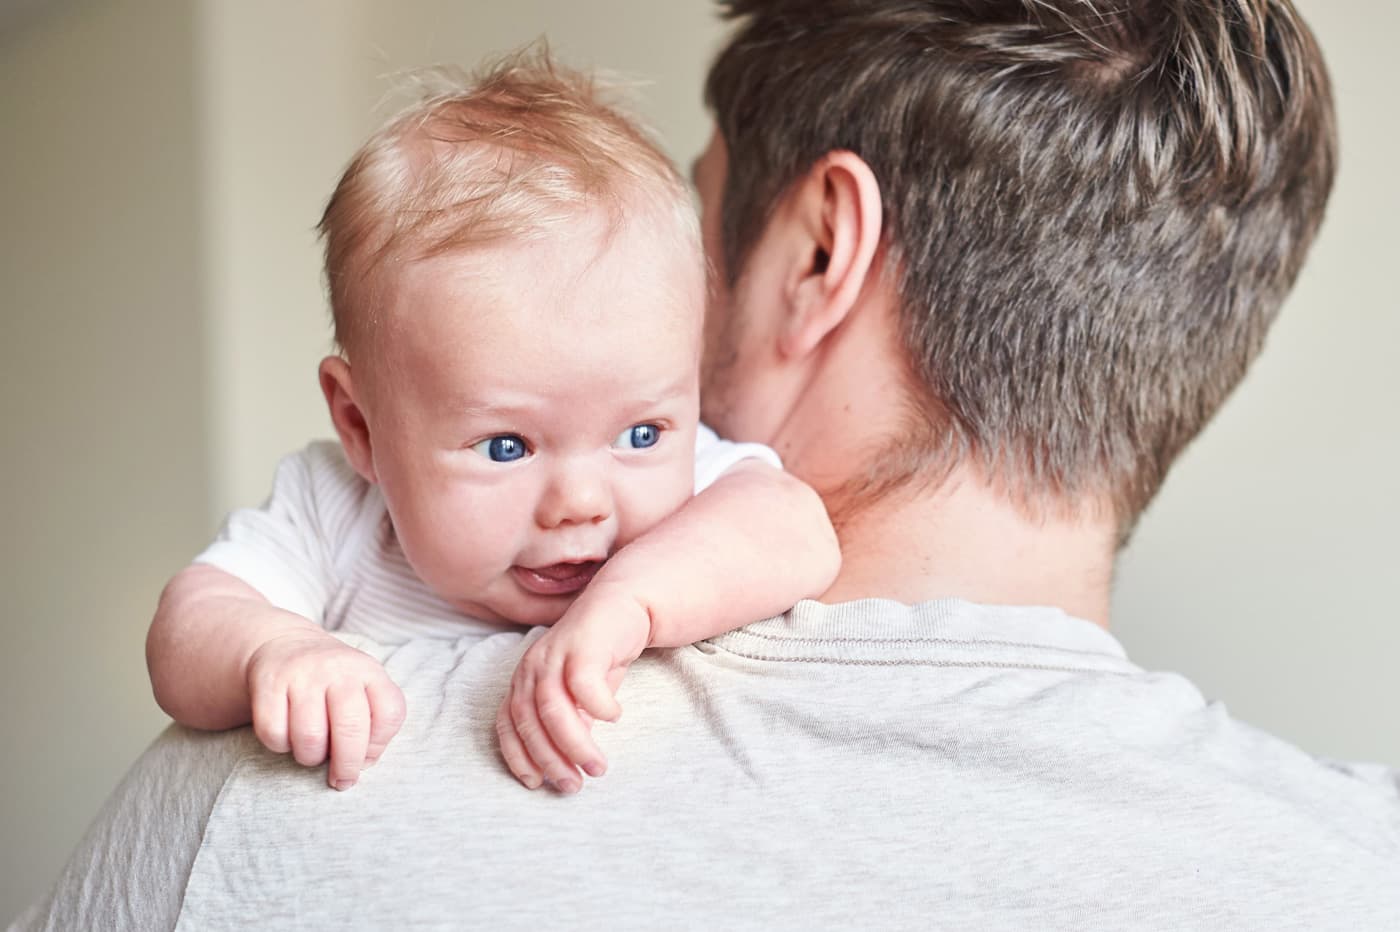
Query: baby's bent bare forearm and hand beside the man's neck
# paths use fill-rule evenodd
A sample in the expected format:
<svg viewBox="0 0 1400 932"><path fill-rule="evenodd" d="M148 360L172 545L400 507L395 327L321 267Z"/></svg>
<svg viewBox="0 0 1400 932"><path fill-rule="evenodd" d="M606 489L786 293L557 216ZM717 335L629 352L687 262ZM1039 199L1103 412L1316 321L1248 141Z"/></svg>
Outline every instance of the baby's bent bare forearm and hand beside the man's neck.
<svg viewBox="0 0 1400 932"><path fill-rule="evenodd" d="M822 500L756 459L736 463L603 564L521 658L497 718L501 753L529 788L578 789L606 761L587 715L616 719L613 693L648 647L680 647L816 598L840 549Z"/></svg>

